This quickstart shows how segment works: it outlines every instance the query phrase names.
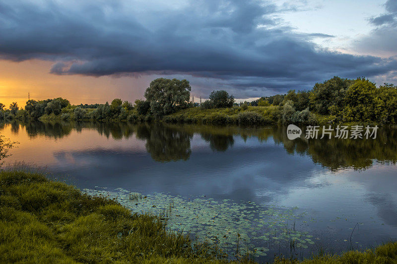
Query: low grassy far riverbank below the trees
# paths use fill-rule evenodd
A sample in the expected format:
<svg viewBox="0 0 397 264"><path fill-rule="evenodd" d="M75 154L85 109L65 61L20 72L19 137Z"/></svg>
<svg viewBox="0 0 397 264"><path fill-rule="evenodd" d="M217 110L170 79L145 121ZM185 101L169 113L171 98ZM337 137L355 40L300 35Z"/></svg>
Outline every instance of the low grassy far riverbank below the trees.
<svg viewBox="0 0 397 264"><path fill-rule="evenodd" d="M76 118L73 109L64 109L59 115L44 114L38 118L40 121L99 121L99 122L166 122L166 123L185 123L185 124L212 124L212 125L378 125L377 122L341 122L332 115L320 115L309 110L295 111L286 109L283 106L233 106L230 108L211 108L190 107L181 109L175 113L165 115L160 119L152 115L139 114L135 109L122 118L103 118L97 119L93 115L95 109L84 109L84 114ZM16 118L25 120L21 118Z"/></svg>

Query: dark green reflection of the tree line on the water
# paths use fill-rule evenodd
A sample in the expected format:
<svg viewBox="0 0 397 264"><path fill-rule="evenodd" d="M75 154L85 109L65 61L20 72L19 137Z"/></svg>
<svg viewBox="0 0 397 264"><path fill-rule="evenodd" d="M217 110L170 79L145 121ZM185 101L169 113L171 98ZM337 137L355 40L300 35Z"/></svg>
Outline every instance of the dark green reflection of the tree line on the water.
<svg viewBox="0 0 397 264"><path fill-rule="evenodd" d="M215 152L226 152L232 148L236 137L247 141L257 138L260 142L272 139L281 144L288 154L311 157L314 163L336 171L343 168L367 169L374 161L396 163L397 130L382 128L376 139L311 139L303 136L289 140L285 127L263 128L215 127L200 125L129 124L98 122L28 122L9 123L11 131L18 134L24 127L29 137L40 135L60 139L72 130L95 129L100 135L115 140L136 137L145 141L146 151L159 162L188 160L192 155L191 142L195 134L208 143ZM4 123L1 125L4 126ZM0 128L1 128L0 126Z"/></svg>

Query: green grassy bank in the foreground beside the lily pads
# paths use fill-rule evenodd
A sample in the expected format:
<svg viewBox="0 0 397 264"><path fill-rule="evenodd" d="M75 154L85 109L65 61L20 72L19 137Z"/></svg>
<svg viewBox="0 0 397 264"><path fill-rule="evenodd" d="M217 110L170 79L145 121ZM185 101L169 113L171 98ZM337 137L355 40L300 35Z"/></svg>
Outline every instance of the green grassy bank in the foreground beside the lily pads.
<svg viewBox="0 0 397 264"><path fill-rule="evenodd" d="M1 263L227 263L152 215L44 175L0 172ZM279 263L298 263L276 260ZM396 263L397 243L303 263Z"/></svg>

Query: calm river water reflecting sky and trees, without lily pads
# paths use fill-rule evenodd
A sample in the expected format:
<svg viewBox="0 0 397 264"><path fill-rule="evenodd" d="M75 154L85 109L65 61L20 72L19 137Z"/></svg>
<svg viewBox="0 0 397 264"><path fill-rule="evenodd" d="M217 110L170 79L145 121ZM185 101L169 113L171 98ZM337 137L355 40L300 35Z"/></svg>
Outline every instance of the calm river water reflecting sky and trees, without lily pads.
<svg viewBox="0 0 397 264"><path fill-rule="evenodd" d="M287 228L295 221L295 229L315 243L291 250L287 239L270 243L281 236L271 240L270 234L260 261L397 239L397 129L380 129L376 139L294 141L277 126L13 122L0 124L0 132L20 143L6 161L47 166L82 189L294 209ZM246 244L262 246L257 240Z"/></svg>

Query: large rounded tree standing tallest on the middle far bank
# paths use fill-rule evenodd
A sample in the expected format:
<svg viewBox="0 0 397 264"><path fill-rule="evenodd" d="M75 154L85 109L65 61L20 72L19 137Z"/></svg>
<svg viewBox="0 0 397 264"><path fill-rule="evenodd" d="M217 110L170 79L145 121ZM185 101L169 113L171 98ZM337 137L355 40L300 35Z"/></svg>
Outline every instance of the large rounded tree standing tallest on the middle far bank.
<svg viewBox="0 0 397 264"><path fill-rule="evenodd" d="M190 99L189 81L158 78L146 89L145 98L150 103L150 111L156 117L174 112L178 107L185 108Z"/></svg>

